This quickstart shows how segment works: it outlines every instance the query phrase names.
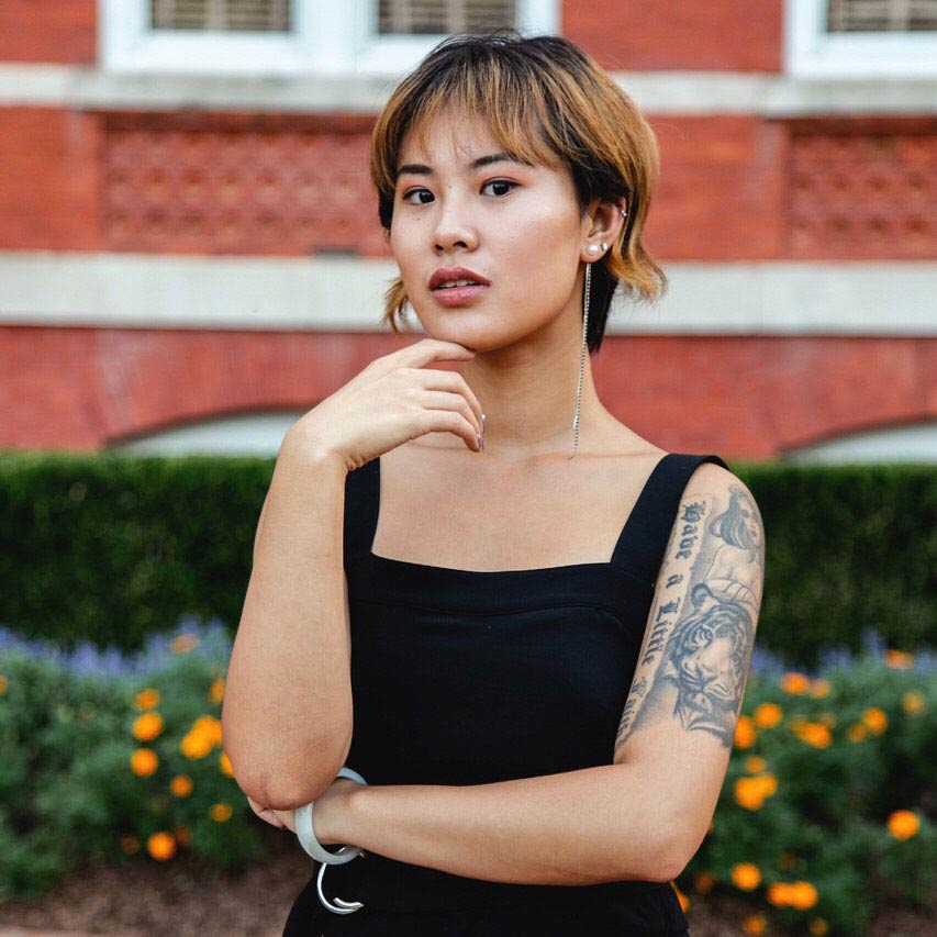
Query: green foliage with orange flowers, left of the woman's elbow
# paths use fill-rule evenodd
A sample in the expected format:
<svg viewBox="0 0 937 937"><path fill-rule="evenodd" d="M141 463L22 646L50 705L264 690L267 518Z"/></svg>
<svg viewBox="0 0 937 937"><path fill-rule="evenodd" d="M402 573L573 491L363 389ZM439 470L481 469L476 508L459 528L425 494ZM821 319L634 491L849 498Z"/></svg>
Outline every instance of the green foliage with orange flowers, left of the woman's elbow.
<svg viewBox="0 0 937 937"><path fill-rule="evenodd" d="M0 649L0 901L42 895L90 858L171 861L150 852L154 835L217 870L263 855L263 821L222 766L226 657L174 658L137 678L77 676ZM161 718L152 739L134 733L144 689L159 694L147 711ZM200 734L211 740L186 754L182 740ZM154 773L133 770L140 749L155 752ZM185 795L171 785L180 776L191 780Z"/></svg>

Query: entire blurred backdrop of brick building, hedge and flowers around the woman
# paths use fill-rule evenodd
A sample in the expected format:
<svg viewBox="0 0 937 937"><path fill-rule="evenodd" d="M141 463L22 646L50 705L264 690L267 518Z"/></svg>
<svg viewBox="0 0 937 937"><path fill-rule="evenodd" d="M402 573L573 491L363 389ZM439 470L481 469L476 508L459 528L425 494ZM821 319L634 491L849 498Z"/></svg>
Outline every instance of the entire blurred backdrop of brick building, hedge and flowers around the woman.
<svg viewBox="0 0 937 937"><path fill-rule="evenodd" d="M766 522L693 934L930 933L937 0L0 0L0 933L281 932L305 857L217 722L256 521L289 426L420 337L375 118L497 25L650 121L670 289L598 390Z"/></svg>

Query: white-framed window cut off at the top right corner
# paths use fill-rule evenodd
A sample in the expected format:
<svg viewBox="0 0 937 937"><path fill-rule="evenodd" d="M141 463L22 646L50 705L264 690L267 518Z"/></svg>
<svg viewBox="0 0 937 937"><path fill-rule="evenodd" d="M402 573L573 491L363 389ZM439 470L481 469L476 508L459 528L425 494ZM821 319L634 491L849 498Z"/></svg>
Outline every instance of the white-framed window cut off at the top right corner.
<svg viewBox="0 0 937 937"><path fill-rule="evenodd" d="M795 77L937 76L937 0L785 0L784 13Z"/></svg>

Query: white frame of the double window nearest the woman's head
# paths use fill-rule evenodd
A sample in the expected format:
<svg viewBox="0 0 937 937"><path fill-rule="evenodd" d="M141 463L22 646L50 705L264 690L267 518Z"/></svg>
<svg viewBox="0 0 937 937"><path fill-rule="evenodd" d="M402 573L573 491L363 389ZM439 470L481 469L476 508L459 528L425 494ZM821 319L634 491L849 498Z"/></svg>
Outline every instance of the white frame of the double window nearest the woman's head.
<svg viewBox="0 0 937 937"><path fill-rule="evenodd" d="M209 75L399 75L443 35L377 34L375 0L293 0L290 35L149 30L148 0L98 0L101 67ZM516 0L517 29L557 33L560 0Z"/></svg>

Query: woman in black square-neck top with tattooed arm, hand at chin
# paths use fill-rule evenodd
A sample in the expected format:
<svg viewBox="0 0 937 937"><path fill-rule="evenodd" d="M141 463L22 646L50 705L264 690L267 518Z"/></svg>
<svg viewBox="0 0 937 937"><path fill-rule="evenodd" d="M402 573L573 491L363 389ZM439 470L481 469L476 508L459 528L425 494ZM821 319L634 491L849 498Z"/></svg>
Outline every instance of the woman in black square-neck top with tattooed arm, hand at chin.
<svg viewBox="0 0 937 937"><path fill-rule="evenodd" d="M595 393L612 292L665 286L654 134L573 44L500 31L440 43L370 158L387 320L430 337L287 434L223 713L260 816L314 802L320 844L364 850L285 933L687 934L763 536L721 458Z"/></svg>

